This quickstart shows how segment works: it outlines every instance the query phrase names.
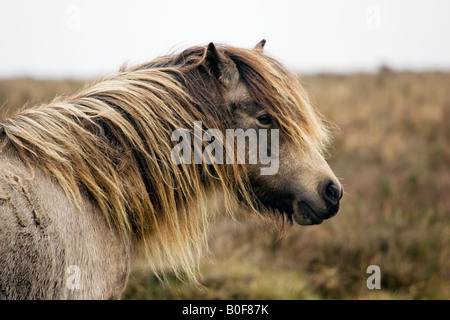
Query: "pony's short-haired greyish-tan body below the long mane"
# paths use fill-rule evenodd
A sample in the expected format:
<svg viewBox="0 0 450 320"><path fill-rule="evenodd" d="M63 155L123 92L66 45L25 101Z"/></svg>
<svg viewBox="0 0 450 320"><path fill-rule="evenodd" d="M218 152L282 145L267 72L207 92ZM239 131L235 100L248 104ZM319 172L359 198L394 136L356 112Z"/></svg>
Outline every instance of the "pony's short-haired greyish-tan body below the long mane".
<svg viewBox="0 0 450 320"><path fill-rule="evenodd" d="M118 299L132 248L92 199L81 210L39 167L0 154L0 299Z"/></svg>

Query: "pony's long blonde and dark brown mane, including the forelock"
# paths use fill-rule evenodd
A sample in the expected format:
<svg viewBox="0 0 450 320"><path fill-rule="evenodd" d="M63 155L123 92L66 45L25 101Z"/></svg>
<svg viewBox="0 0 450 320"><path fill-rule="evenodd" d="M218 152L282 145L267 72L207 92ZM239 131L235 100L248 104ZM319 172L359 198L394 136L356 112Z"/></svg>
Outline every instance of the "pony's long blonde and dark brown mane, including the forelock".
<svg viewBox="0 0 450 320"><path fill-rule="evenodd" d="M2 145L55 179L74 204L82 191L121 236L132 239L155 270L169 265L196 279L206 244L210 193L227 207L252 207L242 165L176 165L171 134L231 128L220 83L192 47L87 85L79 93L29 108L0 123ZM237 65L252 98L279 123L283 139L323 148L326 126L297 78L259 50L220 46ZM1 131L1 130L0 130Z"/></svg>

